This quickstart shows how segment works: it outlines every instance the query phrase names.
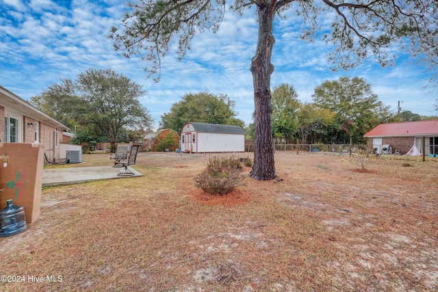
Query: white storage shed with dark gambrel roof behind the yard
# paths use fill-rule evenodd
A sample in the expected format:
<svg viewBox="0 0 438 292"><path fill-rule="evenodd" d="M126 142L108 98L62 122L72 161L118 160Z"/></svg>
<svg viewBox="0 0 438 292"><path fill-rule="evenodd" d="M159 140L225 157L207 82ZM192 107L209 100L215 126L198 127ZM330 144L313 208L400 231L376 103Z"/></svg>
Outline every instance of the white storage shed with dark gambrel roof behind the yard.
<svg viewBox="0 0 438 292"><path fill-rule="evenodd" d="M186 122L181 129L181 152L244 152L245 132L227 124Z"/></svg>

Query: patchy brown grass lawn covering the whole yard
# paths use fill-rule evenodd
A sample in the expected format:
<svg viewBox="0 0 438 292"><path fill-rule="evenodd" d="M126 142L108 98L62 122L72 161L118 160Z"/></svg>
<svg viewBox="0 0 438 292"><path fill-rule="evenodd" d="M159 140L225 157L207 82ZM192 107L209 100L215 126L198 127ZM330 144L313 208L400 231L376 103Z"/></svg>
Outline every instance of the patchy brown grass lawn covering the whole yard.
<svg viewBox="0 0 438 292"><path fill-rule="evenodd" d="M362 172L348 156L277 152L279 180L210 196L193 187L207 158L140 153L142 177L44 188L40 220L0 238L0 274L25 276L0 290L438 289L437 160Z"/></svg>

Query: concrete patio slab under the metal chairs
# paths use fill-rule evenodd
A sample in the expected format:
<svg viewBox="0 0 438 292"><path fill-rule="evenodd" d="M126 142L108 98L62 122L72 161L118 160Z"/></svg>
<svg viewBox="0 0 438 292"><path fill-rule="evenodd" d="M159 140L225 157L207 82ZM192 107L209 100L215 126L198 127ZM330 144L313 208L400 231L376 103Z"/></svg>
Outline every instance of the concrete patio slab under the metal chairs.
<svg viewBox="0 0 438 292"><path fill-rule="evenodd" d="M142 176L143 174L129 168L133 176L118 176L122 168L112 166L94 166L86 168L53 168L42 172L42 186L50 187L55 185L70 185L74 183L85 183L87 181L99 181L110 178L129 178Z"/></svg>

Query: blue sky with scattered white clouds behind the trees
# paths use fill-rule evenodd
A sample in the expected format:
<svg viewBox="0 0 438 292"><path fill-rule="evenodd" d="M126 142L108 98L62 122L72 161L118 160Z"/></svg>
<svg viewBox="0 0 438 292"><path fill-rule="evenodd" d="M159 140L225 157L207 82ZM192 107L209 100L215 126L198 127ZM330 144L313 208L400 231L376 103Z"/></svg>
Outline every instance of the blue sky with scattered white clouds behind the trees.
<svg viewBox="0 0 438 292"><path fill-rule="evenodd" d="M0 85L21 98L40 94L62 78L75 79L88 68L112 68L143 86L140 98L158 125L160 115L187 93L227 94L235 101L238 118L246 124L253 113L253 78L250 59L257 43L257 21L253 12L239 16L227 12L219 31L196 36L192 49L180 61L176 45L162 59L159 83L148 79L140 59L126 59L114 51L107 38L118 25L125 0L50 1L0 0ZM324 16L323 25L330 23ZM299 36L300 18L290 13L276 21L275 66L271 85L294 85L302 102L311 102L316 86L339 77L362 77L385 105L422 116L435 116L437 91L424 89L430 73L418 62L401 56L393 67L381 68L370 59L350 70L333 72L327 61L331 45ZM157 126L156 126L157 127Z"/></svg>

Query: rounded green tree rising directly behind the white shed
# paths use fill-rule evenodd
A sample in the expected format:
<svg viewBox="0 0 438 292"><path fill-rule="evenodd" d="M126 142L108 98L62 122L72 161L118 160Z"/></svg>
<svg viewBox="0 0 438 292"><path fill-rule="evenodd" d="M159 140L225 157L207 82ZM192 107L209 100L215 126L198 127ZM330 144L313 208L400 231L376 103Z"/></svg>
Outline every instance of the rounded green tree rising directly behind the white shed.
<svg viewBox="0 0 438 292"><path fill-rule="evenodd" d="M210 124L233 124L244 127L244 122L236 118L235 102L226 95L208 92L185 94L181 101L174 103L170 111L161 116L160 127L179 133L185 122L208 122Z"/></svg>

